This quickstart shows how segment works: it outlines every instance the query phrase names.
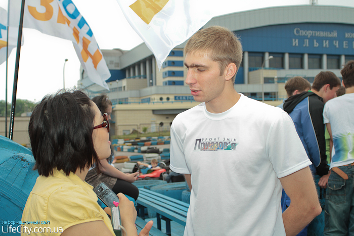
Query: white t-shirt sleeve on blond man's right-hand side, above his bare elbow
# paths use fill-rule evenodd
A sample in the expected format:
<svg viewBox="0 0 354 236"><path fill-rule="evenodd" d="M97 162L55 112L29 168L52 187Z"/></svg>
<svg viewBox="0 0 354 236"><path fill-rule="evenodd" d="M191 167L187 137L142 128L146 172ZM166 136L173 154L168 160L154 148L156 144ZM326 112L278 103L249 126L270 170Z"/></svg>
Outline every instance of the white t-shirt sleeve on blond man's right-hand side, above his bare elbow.
<svg viewBox="0 0 354 236"><path fill-rule="evenodd" d="M276 119L267 138L267 153L278 178L301 170L312 162L308 159L291 117L283 112Z"/></svg>

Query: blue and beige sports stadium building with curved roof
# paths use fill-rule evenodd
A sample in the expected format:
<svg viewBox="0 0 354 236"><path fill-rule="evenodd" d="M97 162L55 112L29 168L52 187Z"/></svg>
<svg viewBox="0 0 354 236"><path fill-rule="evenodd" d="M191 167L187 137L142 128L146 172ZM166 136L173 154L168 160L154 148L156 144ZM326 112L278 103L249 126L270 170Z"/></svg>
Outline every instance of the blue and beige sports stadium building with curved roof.
<svg viewBox="0 0 354 236"><path fill-rule="evenodd" d="M286 99L287 79L302 76L313 82L327 70L341 78L342 65L354 60L354 8L265 8L214 17L204 28L212 25L227 27L242 42L236 91L274 106ZM145 43L130 51L102 50L112 74L109 91L81 69L79 86L91 97L107 93L113 103L113 134L169 129L177 114L198 104L184 83L184 45L171 51L160 71Z"/></svg>

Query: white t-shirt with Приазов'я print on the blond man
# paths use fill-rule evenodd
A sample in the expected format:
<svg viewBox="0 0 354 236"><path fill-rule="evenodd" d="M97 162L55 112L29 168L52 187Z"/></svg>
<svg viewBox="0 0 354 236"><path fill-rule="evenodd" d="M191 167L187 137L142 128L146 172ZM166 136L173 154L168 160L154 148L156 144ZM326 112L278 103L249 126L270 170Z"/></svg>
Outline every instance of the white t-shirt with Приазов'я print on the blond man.
<svg viewBox="0 0 354 236"><path fill-rule="evenodd" d="M290 116L249 99L202 103L171 126L170 169L191 174L184 235L285 235L279 178L311 165Z"/></svg>

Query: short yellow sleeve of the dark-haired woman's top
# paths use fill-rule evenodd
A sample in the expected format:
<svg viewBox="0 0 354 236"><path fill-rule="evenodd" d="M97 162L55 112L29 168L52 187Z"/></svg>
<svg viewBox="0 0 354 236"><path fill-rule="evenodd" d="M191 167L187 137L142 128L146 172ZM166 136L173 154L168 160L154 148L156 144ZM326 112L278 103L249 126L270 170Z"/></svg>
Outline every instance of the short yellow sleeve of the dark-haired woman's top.
<svg viewBox="0 0 354 236"><path fill-rule="evenodd" d="M104 221L101 207L81 186L65 186L53 192L48 202L48 220L60 222L63 231L73 225Z"/></svg>

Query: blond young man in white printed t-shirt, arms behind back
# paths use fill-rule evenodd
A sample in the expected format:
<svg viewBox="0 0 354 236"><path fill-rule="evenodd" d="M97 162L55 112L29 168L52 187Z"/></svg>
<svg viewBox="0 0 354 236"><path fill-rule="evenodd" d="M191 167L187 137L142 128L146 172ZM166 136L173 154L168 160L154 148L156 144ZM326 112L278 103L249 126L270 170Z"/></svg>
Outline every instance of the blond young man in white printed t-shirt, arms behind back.
<svg viewBox="0 0 354 236"><path fill-rule="evenodd" d="M235 90L242 46L228 29L199 30L184 53L201 102L171 126L170 169L191 189L184 235L296 235L321 207L291 118ZM283 214L282 186L291 198Z"/></svg>

